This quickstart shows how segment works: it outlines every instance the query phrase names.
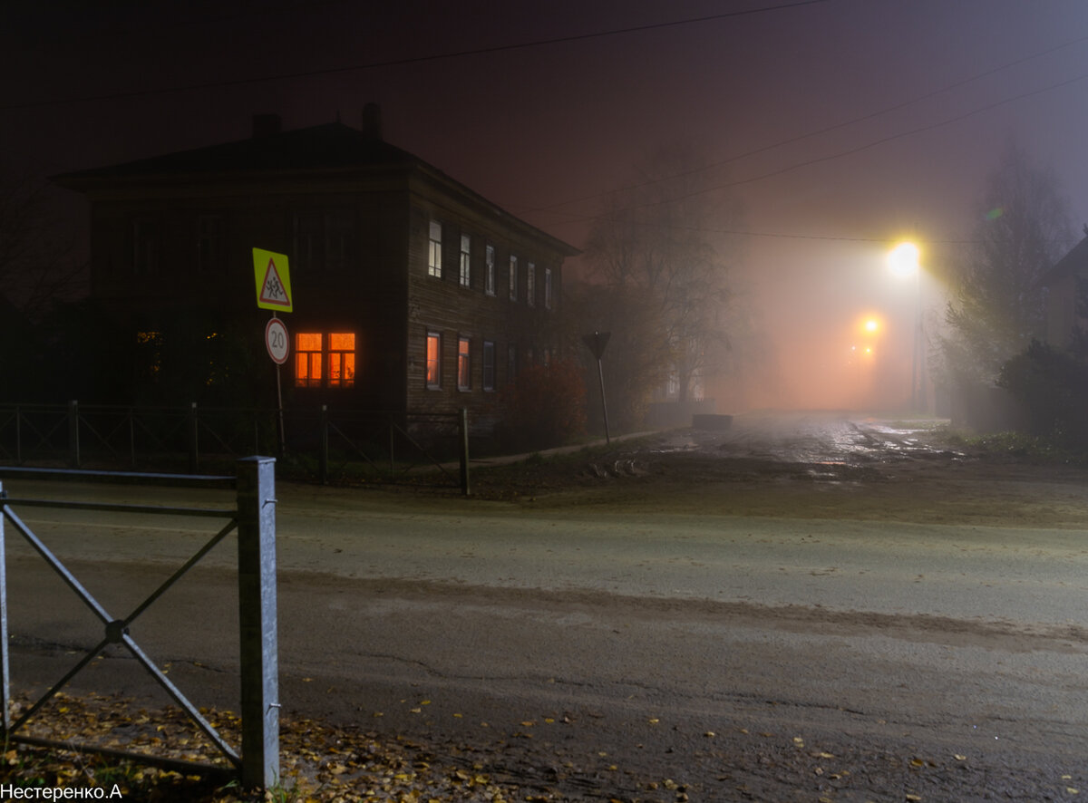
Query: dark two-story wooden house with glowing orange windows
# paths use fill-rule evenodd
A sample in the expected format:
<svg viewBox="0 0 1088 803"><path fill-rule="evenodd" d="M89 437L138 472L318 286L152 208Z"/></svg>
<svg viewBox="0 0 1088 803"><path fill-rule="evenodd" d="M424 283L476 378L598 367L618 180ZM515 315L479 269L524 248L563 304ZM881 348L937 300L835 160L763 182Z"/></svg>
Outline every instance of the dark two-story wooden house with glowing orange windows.
<svg viewBox="0 0 1088 803"><path fill-rule="evenodd" d="M134 338L169 339L171 320L207 321L209 337L243 322L263 355L251 249L287 255L292 406L466 407L487 425L497 392L560 346L577 249L385 143L375 107L362 129L262 115L250 139L54 181L86 195L91 297Z"/></svg>

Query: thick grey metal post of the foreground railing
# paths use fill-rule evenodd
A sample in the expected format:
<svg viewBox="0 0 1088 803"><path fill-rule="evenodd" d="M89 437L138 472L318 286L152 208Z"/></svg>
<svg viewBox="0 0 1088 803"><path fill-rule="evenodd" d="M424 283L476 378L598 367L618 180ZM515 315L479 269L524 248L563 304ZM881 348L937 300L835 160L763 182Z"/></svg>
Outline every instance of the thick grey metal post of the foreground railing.
<svg viewBox="0 0 1088 803"><path fill-rule="evenodd" d="M280 780L275 458L244 457L237 467L242 785L268 789Z"/></svg>

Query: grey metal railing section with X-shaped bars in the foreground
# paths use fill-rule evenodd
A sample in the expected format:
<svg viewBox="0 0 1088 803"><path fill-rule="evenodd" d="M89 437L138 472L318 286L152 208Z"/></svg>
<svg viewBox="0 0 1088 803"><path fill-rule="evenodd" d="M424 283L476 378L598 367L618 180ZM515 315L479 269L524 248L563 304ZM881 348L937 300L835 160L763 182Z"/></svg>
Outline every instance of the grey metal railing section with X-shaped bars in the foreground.
<svg viewBox="0 0 1088 803"><path fill-rule="evenodd" d="M0 468L0 475L57 478L63 475L87 481L134 481L140 483L187 484L205 487L235 487L234 509L197 507L161 507L151 505L107 504L94 502L61 502L52 499L8 498L0 483L0 703L2 703L2 736L13 742L38 744L62 750L104 753L138 762L173 766L190 770L221 769L212 765L194 765L166 757L148 756L106 749L94 744L54 742L21 733L21 729L49 700L67 684L85 666L110 644L120 644L151 675L170 697L211 740L233 765L244 787L268 788L280 775L280 703L277 666L277 627L275 593L275 460L271 457L248 457L237 461L236 477L203 477L177 474L137 474L106 471L53 471L48 469ZM144 602L123 618L106 610L61 563L42 540L20 518L14 508L50 507L69 510L104 510L118 514L156 514L225 518L227 522L193 557L186 560ZM4 526L11 523L34 551L55 571L64 583L99 619L103 634L62 678L33 703L17 719L12 716L10 646L8 641L8 575ZM242 745L235 750L205 719L196 706L145 654L129 633L129 626L163 593L230 533L237 531L238 542L238 614L242 675Z"/></svg>

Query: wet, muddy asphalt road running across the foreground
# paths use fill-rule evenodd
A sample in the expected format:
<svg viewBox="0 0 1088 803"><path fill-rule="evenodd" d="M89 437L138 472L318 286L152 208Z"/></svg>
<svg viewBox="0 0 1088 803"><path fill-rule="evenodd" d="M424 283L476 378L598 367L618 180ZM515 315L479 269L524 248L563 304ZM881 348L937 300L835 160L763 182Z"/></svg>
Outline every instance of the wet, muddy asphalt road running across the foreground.
<svg viewBox="0 0 1088 803"><path fill-rule="evenodd" d="M803 444L806 464L819 465L861 448L858 432L881 448L871 424L788 425L770 436L740 422L732 453L800 460ZM776 515L742 516L281 484L283 705L449 745L569 796L1088 793L1081 530L858 519L846 497L842 518L796 518L789 489L772 490ZM168 495L231 504L223 493ZM18 511L119 616L215 529ZM101 629L10 526L8 542L12 676L41 688ZM133 628L199 704L236 705L232 548L218 546ZM150 693L135 669L107 659L73 687Z"/></svg>

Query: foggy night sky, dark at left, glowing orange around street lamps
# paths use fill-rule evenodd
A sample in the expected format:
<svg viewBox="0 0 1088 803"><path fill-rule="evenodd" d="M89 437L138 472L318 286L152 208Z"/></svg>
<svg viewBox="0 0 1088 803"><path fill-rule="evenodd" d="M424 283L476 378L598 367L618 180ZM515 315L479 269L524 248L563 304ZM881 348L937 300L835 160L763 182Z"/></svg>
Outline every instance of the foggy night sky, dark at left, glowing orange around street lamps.
<svg viewBox="0 0 1088 803"><path fill-rule="evenodd" d="M694 149L746 210L716 234L744 255L737 345L775 369L738 406L907 392L864 398L836 366L873 312L908 374L914 287L883 254L922 242L939 308L1010 141L1088 222L1083 0L5 0L0 52L4 175L242 139L255 113L358 125L375 101L388 141L581 247L639 160Z"/></svg>

